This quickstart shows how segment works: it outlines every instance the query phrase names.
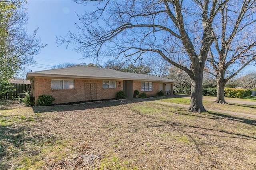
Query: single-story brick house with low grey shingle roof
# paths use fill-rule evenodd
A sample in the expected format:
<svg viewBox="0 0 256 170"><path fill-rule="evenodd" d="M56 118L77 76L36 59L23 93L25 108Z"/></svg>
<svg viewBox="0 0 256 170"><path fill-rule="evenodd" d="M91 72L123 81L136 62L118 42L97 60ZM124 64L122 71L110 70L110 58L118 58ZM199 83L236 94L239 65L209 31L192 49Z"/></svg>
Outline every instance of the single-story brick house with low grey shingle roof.
<svg viewBox="0 0 256 170"><path fill-rule="evenodd" d="M132 98L134 90L156 96L162 91L173 92L176 81L153 75L125 73L98 67L68 67L27 73L31 82L31 94L52 95L54 103L70 103L114 99L123 90L127 98Z"/></svg>

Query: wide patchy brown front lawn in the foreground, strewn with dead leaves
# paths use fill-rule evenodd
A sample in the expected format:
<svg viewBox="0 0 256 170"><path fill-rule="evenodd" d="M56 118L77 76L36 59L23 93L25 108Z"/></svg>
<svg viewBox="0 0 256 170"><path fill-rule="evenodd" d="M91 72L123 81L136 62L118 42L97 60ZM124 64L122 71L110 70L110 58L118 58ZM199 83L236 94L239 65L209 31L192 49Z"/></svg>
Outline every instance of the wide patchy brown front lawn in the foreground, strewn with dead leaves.
<svg viewBox="0 0 256 170"><path fill-rule="evenodd" d="M131 101L0 113L1 170L256 167L256 120L248 118ZM100 159L83 164L80 154Z"/></svg>

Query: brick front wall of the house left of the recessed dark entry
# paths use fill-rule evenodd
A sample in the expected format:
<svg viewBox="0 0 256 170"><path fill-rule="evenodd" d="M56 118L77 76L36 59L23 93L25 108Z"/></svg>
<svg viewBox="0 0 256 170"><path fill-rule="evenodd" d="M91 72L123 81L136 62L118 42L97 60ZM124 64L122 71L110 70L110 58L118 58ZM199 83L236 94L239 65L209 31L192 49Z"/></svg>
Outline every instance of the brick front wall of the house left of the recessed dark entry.
<svg viewBox="0 0 256 170"><path fill-rule="evenodd" d="M33 96L35 100L38 96L52 95L55 98L54 103L69 103L77 101L86 101L88 96L85 96L85 84L91 83L96 84L96 100L102 99L113 99L116 98L116 93L123 90L123 82L116 81L115 89L103 89L103 80L89 80L89 79L74 79L74 89L52 89L51 82L52 79L58 79L56 77L35 77ZM61 79L61 78L60 78ZM68 78L70 79L70 78ZM119 84L120 82L120 84ZM118 87L118 86L121 87Z"/></svg>

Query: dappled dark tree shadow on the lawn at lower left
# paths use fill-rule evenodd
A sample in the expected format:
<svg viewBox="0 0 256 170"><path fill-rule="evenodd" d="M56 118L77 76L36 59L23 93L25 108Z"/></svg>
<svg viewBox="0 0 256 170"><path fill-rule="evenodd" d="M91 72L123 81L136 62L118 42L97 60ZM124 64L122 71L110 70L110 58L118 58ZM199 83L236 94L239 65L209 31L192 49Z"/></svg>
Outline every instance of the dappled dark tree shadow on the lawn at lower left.
<svg viewBox="0 0 256 170"><path fill-rule="evenodd" d="M41 150L36 150L30 146L51 144L58 140L54 135L37 134L36 136L30 135L31 127L26 123L18 123L18 126L0 125L1 133L1 164L0 169L10 169L10 165L6 160L18 157L20 152L22 154L36 156ZM5 160L5 161L4 161ZM9 162L9 161L8 161Z"/></svg>

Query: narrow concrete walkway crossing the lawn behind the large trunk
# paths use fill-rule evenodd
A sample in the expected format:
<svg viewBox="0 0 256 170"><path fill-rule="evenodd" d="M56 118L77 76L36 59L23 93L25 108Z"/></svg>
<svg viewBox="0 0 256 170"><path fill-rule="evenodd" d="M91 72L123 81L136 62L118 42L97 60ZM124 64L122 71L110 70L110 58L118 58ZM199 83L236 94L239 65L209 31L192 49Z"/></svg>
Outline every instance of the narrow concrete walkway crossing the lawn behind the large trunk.
<svg viewBox="0 0 256 170"><path fill-rule="evenodd" d="M180 106L180 107L186 107L186 108L189 107L189 105L183 105L183 104L177 104L177 103L168 103L168 102L162 102L162 101L150 101L150 102L159 103L159 104L162 104L162 105L172 105L172 106ZM239 116L245 116L245 117L250 117L250 118L256 119L256 115L251 115L251 114L246 114L246 113L223 111L223 110L209 109L209 108L205 108L205 109L208 110L208 111L214 111L214 112L218 112L218 113L227 113L227 114L230 114L230 115L239 115Z"/></svg>

